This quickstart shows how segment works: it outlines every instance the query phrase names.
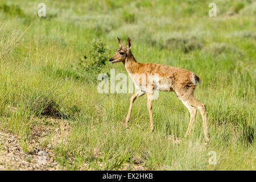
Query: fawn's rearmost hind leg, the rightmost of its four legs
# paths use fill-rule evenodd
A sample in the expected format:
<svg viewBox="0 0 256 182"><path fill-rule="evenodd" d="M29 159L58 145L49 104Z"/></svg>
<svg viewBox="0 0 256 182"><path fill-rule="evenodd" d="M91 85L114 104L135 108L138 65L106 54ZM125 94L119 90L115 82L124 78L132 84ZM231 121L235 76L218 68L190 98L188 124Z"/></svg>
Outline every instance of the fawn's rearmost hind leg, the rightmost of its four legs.
<svg viewBox="0 0 256 182"><path fill-rule="evenodd" d="M192 105L193 107L196 107L196 109L198 109L200 111L202 118L203 118L204 138L205 138L206 142L209 142L205 105L202 104L201 102L199 102L193 95L189 96L185 101L187 101L188 104Z"/></svg>

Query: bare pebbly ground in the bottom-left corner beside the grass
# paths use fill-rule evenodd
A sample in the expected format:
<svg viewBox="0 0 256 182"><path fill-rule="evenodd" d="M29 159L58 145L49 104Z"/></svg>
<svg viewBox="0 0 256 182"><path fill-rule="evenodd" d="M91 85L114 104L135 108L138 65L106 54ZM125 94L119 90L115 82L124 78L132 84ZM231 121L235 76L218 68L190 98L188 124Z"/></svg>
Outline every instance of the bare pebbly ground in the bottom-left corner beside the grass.
<svg viewBox="0 0 256 182"><path fill-rule="evenodd" d="M20 139L9 132L0 131L0 170L58 170L59 164L49 150L25 153L20 147Z"/></svg>

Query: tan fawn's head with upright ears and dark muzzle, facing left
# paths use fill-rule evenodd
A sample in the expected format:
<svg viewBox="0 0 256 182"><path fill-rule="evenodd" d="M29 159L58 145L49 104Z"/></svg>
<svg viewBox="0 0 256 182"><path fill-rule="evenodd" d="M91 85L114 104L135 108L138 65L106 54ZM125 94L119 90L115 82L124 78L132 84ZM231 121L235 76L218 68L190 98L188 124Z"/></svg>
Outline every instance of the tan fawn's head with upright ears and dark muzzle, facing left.
<svg viewBox="0 0 256 182"><path fill-rule="evenodd" d="M127 39L127 45L123 46L122 41L117 37L119 42L119 48L115 50L115 55L109 59L109 63L118 63L125 61L126 57L130 55L131 39Z"/></svg>

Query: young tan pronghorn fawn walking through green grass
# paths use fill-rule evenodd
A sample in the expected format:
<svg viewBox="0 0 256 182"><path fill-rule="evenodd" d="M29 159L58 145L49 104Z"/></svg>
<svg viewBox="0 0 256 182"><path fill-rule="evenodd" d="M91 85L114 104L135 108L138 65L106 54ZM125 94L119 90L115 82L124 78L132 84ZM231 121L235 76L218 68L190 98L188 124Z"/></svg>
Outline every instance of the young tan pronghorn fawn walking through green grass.
<svg viewBox="0 0 256 182"><path fill-rule="evenodd" d="M205 105L199 102L193 96L196 84L197 82L200 82L200 78L196 76L195 73L192 73L186 69L175 68L162 64L138 63L131 53L131 39L128 38L127 46L123 46L121 40L119 38L117 39L120 47L115 51L115 55L109 59L109 62L122 62L123 65L125 65L126 71L131 76L135 86L139 87L139 91L131 96L125 126L128 126L134 101L146 93L147 108L150 115L150 129L153 131L154 123L152 115L152 96L154 94L154 90L175 92L177 97L188 108L190 113L189 125L185 137L191 130L191 126L195 121L196 111L198 109L203 118L204 137L206 142L208 142L209 138ZM139 78L140 75L145 75L146 81L143 82L142 79ZM155 75L157 75L157 79Z"/></svg>

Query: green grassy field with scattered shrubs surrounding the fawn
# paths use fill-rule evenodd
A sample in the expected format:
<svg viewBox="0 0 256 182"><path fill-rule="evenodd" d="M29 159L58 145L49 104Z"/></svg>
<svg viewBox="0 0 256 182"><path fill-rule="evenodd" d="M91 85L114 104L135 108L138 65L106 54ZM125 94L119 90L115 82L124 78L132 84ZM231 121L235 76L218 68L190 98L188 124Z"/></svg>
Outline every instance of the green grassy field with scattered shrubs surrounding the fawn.
<svg viewBox="0 0 256 182"><path fill-rule="evenodd" d="M52 129L42 150L51 147L62 169L255 170L256 2L44 0L39 18L40 2L0 3L0 127L24 152L38 126ZM97 91L99 73L126 73L108 63L117 36L133 40L138 62L201 78L195 96L207 106L209 146L199 113L184 139L189 112L173 92L153 101L154 133L145 96L124 127L131 94ZM60 123L69 129L52 141Z"/></svg>

